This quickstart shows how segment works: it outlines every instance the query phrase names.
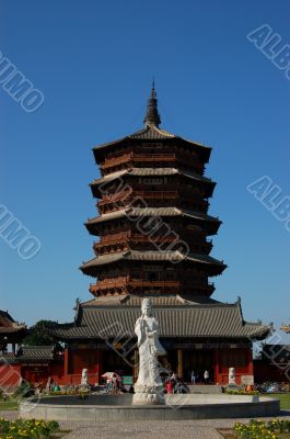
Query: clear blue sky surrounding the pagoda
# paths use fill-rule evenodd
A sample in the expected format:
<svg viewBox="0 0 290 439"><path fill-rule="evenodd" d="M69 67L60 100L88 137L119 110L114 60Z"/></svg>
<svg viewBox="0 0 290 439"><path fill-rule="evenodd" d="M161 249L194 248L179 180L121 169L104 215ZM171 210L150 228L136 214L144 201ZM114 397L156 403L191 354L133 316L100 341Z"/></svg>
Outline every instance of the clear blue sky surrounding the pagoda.
<svg viewBox="0 0 290 439"><path fill-rule="evenodd" d="M91 297L91 148L142 126L154 76L162 126L213 148L214 297L289 322L290 233L246 191L267 175L290 195L290 81L246 40L268 23L290 44L289 16L286 1L1 1L0 49L45 101L26 113L0 88L0 203L42 241L24 261L0 239L0 308L68 322Z"/></svg>

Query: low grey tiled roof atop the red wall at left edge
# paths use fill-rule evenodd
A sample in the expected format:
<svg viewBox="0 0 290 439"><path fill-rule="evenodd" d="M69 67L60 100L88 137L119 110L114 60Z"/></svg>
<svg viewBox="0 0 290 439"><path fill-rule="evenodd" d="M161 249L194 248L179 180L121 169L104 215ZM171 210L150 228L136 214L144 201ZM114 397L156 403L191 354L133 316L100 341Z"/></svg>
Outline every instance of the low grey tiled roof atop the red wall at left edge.
<svg viewBox="0 0 290 439"><path fill-rule="evenodd" d="M16 354L0 354L0 363L47 362L54 359L53 346L24 346Z"/></svg>

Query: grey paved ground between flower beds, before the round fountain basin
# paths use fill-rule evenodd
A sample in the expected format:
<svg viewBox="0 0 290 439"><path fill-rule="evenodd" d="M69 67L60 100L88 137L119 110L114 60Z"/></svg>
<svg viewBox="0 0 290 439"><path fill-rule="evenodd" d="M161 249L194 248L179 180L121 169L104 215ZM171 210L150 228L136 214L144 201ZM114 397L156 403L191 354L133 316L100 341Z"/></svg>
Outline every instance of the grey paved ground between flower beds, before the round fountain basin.
<svg viewBox="0 0 290 439"><path fill-rule="evenodd" d="M0 417L13 420L18 417L18 412L0 412ZM283 410L279 418L290 419L290 410ZM61 429L72 430L66 439L221 439L216 429L232 427L237 420L248 419L98 421L97 424L63 421L60 426Z"/></svg>

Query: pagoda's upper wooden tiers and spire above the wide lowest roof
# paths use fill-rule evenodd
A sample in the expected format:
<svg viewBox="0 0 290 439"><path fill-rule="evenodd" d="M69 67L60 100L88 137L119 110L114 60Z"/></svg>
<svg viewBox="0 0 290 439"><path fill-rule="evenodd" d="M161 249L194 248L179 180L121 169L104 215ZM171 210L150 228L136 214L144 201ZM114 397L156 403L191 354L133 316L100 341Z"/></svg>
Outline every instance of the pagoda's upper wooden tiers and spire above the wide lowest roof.
<svg viewBox="0 0 290 439"><path fill-rule="evenodd" d="M96 296L207 296L225 266L209 256L221 222L208 215L214 182L204 177L210 148L159 127L154 87L146 127L94 148L102 177L91 183L98 216L85 224L100 236L84 263Z"/></svg>

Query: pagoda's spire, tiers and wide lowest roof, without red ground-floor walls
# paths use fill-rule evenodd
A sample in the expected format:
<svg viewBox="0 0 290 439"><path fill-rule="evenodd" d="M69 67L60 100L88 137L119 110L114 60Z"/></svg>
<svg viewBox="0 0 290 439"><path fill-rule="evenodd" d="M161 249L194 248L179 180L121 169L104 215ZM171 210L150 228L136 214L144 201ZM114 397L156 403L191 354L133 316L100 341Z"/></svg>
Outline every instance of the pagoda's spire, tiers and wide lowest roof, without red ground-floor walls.
<svg viewBox="0 0 290 439"><path fill-rule="evenodd" d="M144 127L93 148L101 177L91 184L97 236L81 270L94 299L79 303L76 322L59 325L63 340L97 338L114 320L134 334L143 297L151 297L163 337L263 338L270 327L246 323L241 303L210 296L211 278L227 268L210 256L221 221L211 216L216 182L205 177L211 148L160 128L154 85ZM114 337L114 334L111 334Z"/></svg>

